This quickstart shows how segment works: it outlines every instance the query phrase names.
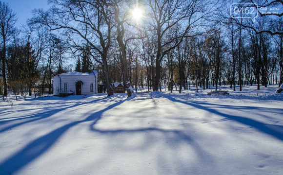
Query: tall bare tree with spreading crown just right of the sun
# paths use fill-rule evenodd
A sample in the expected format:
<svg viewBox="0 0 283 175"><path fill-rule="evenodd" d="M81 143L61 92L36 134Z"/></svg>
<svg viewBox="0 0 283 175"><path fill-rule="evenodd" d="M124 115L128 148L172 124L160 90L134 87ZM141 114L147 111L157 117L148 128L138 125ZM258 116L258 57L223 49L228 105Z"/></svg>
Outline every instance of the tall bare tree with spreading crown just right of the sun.
<svg viewBox="0 0 283 175"><path fill-rule="evenodd" d="M158 90L161 78L161 63L163 57L182 43L184 37L197 35L204 19L208 17L215 3L213 0L145 0L150 9L149 24L157 35L156 72L153 90ZM179 35L165 39L165 34L176 26ZM177 41L177 42L176 42Z"/></svg>

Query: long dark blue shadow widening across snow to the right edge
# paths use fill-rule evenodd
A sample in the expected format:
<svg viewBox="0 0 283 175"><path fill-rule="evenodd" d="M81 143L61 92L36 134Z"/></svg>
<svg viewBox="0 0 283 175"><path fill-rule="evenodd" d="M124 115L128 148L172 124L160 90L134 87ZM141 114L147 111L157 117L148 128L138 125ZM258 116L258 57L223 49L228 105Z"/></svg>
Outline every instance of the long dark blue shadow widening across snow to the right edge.
<svg viewBox="0 0 283 175"><path fill-rule="evenodd" d="M257 130L265 133L265 134L268 134L268 135L270 135L274 138L277 138L279 140L283 140L283 126L279 126L279 125L275 125L275 124L265 124L265 123L261 123L261 122L258 122L258 121L252 120L252 119L245 118L245 117L239 117L239 116L235 116L235 115L224 114L224 113L219 112L215 109L211 109L209 107L205 107L203 105L196 104L194 102L183 102L183 101L177 100L177 99L172 98L172 97L166 97L166 98L171 100L172 102L178 102L178 103L182 103L182 104L185 104L185 105L190 105L190 106L193 106L195 108L199 108L199 109L208 111L210 113L214 113L214 114L217 114L219 116L229 118L229 119L237 121L239 123L243 123L245 125L252 126L252 127L256 128ZM227 106L227 108L229 108L229 106Z"/></svg>

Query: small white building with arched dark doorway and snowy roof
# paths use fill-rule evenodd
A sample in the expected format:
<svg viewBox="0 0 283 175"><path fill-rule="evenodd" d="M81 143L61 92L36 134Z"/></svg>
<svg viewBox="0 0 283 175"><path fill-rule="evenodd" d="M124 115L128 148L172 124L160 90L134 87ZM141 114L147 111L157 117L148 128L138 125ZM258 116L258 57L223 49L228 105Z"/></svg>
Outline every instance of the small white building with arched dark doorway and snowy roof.
<svg viewBox="0 0 283 175"><path fill-rule="evenodd" d="M53 77L53 95L67 93L73 95L90 95L97 94L97 75L98 72L93 70L92 73L67 72Z"/></svg>

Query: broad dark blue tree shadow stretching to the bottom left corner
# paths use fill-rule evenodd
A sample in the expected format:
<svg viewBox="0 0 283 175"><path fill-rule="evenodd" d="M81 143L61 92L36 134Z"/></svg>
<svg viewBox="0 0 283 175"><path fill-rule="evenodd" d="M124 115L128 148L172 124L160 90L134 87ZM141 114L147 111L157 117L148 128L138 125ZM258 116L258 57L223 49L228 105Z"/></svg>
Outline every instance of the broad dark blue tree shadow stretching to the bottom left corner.
<svg viewBox="0 0 283 175"><path fill-rule="evenodd" d="M109 97L105 97L108 98ZM95 101L103 100L98 99ZM111 97L110 97L111 98ZM66 124L64 126L61 126L60 128L40 137L39 139L36 139L29 143L27 146L25 146L23 149L21 149L19 152L15 153L11 157L8 157L3 162L0 162L0 174L6 174L8 171L11 174L14 174L15 172L19 171L21 168L26 166L28 163L35 160L37 157L40 157L40 155L44 154L46 151L48 151L51 146L57 142L57 140L65 133L68 129L71 127L83 123L83 122L89 122L94 121L94 123L97 123L101 119L101 114L115 106L121 105L125 100L121 100L119 102L116 102L112 105L109 105L108 107L93 113L89 117L85 118L81 121L75 121L69 124ZM81 104L80 104L81 105ZM80 106L80 105L73 105L71 107ZM59 111L57 111L59 112ZM54 113L51 113L51 115ZM49 116L46 116L49 117ZM46 118L44 117L44 118ZM42 118L41 118L42 119ZM37 119L40 120L40 119Z"/></svg>

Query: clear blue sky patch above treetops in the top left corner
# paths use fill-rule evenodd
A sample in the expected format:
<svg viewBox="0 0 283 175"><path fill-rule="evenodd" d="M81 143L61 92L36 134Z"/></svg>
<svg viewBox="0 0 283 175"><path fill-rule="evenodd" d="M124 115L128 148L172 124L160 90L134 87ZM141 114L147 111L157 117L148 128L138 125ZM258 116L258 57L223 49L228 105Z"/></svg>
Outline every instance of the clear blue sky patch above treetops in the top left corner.
<svg viewBox="0 0 283 175"><path fill-rule="evenodd" d="M18 22L16 26L25 24L32 17L31 11L35 8L48 9L47 0L0 0L8 2L9 7L17 13Z"/></svg>

